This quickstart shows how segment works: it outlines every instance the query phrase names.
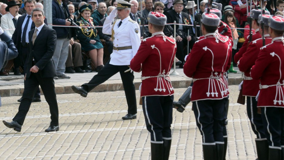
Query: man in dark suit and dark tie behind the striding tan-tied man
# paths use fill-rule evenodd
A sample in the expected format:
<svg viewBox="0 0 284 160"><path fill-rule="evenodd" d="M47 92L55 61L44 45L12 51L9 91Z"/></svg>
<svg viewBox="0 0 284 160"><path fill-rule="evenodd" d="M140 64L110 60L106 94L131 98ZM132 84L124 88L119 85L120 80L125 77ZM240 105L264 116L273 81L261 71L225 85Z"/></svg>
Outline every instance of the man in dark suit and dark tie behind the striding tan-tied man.
<svg viewBox="0 0 284 160"><path fill-rule="evenodd" d="M27 11L27 14L22 15L18 18L17 27L12 35L12 40L18 49L19 55L14 60L14 63L17 63L17 66L22 66L25 64L27 55L28 55L28 47L29 47L29 36L28 33L31 29L35 28L35 23L31 20L31 14L33 9L35 9L35 0L25 0L24 8ZM24 69L25 74L25 69ZM21 102L23 98L21 97L18 102ZM41 101L41 91L39 87L33 97L32 102L40 102Z"/></svg>

